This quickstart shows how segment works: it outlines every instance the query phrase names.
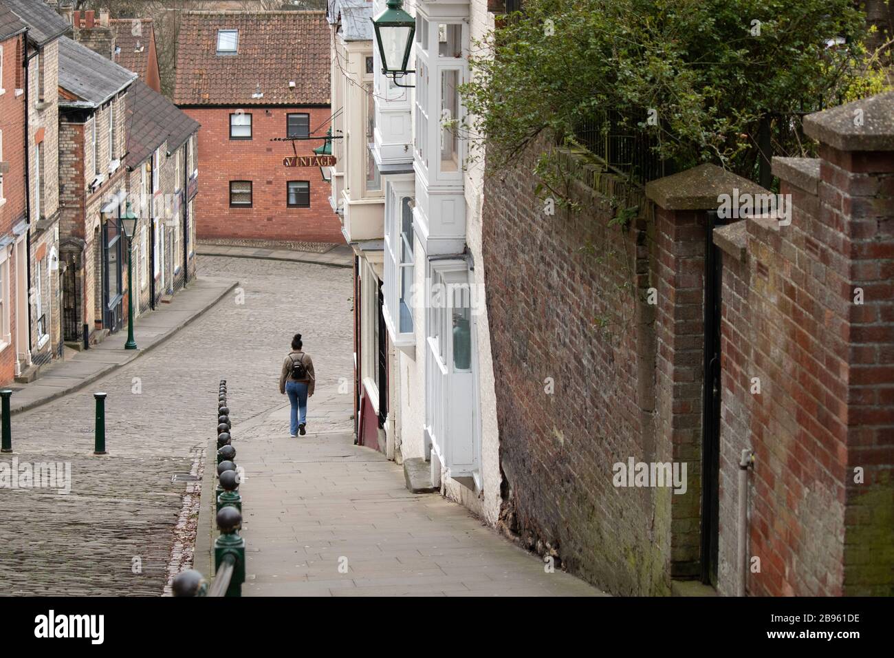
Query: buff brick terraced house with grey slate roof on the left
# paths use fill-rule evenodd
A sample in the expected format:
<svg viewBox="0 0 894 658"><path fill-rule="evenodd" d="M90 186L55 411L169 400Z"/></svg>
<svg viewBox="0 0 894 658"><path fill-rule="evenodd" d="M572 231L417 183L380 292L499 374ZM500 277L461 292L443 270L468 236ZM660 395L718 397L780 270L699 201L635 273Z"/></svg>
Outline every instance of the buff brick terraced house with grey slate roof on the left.
<svg viewBox="0 0 894 658"><path fill-rule="evenodd" d="M125 97L137 74L71 38L60 42L64 338L93 343L122 328L127 191Z"/></svg>

